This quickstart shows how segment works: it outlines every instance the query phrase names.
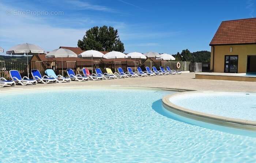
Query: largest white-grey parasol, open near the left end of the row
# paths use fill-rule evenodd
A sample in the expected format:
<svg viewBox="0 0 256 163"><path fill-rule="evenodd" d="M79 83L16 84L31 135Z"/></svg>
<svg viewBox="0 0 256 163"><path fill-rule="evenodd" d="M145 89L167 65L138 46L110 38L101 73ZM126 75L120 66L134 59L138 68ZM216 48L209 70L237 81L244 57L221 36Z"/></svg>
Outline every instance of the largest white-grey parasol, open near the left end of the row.
<svg viewBox="0 0 256 163"><path fill-rule="evenodd" d="M19 44L14 47L11 47L6 54L14 54L14 55L24 55L27 54L27 76L29 77L29 55L38 55L38 54L46 54L41 47L34 44Z"/></svg>

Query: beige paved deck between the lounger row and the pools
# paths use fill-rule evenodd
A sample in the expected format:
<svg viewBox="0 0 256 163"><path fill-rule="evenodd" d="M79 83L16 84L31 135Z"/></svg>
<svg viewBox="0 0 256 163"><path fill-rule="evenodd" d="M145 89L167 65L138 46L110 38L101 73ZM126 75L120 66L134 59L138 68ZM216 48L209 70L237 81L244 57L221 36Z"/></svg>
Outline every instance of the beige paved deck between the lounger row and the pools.
<svg viewBox="0 0 256 163"><path fill-rule="evenodd" d="M181 75L164 75L150 77L136 77L102 81L71 81L70 83L37 84L27 86L3 87L0 90L16 88L56 87L56 86L134 86L172 88L198 91L249 91L256 92L256 83L249 81L227 81L195 79L195 73Z"/></svg>

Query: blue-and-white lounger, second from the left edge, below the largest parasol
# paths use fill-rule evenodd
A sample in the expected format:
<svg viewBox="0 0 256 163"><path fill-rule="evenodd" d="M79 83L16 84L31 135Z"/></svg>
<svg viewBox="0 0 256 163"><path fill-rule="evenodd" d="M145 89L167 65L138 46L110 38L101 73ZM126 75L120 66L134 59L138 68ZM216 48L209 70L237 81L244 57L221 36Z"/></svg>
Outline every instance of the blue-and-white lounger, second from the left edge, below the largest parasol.
<svg viewBox="0 0 256 163"><path fill-rule="evenodd" d="M22 86L26 86L27 84L37 84L37 81L34 79L29 79L29 77L24 76L21 78L19 71L17 70L10 70L9 71L12 81L16 84L21 84Z"/></svg>

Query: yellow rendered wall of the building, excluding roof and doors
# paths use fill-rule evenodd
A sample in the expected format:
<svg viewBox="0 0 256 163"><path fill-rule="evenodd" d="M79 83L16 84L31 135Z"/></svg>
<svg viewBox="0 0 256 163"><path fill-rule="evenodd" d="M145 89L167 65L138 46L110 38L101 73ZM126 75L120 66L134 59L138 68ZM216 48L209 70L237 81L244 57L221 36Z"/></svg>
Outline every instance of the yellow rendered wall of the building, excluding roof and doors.
<svg viewBox="0 0 256 163"><path fill-rule="evenodd" d="M232 47L232 52L230 52L230 47ZM212 69L213 47L211 47L211 71L224 72L225 55L238 55L238 73L245 73L247 69L247 56L256 55L256 44L214 46L214 69Z"/></svg>

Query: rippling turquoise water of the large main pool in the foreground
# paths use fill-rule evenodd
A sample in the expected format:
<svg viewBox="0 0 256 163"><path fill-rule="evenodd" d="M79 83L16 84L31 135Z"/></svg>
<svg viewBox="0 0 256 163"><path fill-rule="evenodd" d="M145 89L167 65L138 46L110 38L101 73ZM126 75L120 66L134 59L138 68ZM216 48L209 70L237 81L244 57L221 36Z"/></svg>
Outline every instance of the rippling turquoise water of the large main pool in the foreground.
<svg viewBox="0 0 256 163"><path fill-rule="evenodd" d="M1 93L0 162L255 162L256 138L249 132L192 125L162 107L167 94L83 88Z"/></svg>

